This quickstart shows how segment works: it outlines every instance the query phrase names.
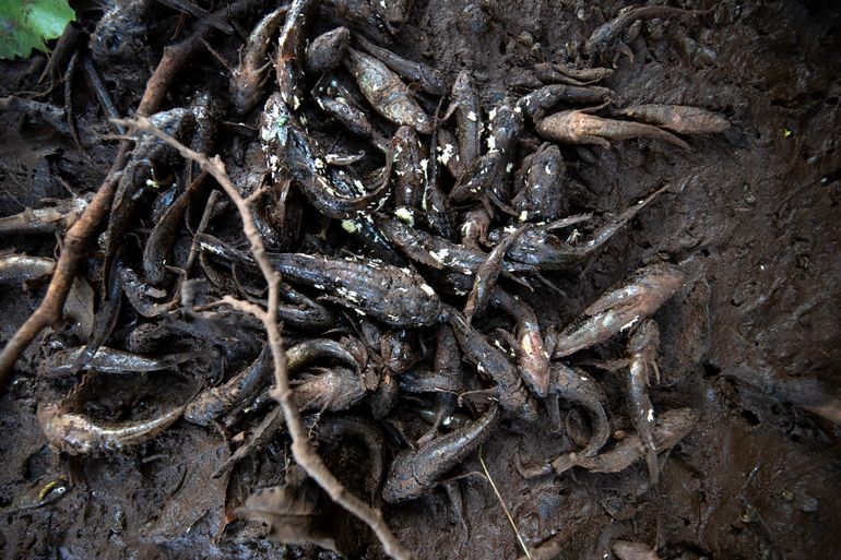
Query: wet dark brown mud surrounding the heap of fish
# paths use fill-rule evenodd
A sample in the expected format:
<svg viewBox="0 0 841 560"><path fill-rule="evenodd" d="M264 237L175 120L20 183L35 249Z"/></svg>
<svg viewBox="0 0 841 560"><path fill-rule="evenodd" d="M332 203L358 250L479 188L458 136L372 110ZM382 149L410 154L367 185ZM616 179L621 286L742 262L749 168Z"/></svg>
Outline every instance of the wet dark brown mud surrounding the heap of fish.
<svg viewBox="0 0 841 560"><path fill-rule="evenodd" d="M649 488L642 462L619 474L575 469L523 479L517 461L543 463L569 449L569 442L544 424L504 421L482 454L531 549L555 547L567 559L609 558L612 543L625 538L658 543L663 558L686 560L841 553L841 427L816 414L841 398L841 229L836 214L841 201L841 11L832 4L724 0L714 15L643 23L603 84L617 93L617 103L706 107L725 115L734 129L694 138L686 153L645 141L619 142L611 150L564 148L579 184L570 195L570 212L617 212L665 182L676 187L596 257L553 276L566 297L542 289L523 297L534 303L543 324L564 325L612 284L659 255L692 258L700 272L655 317L662 330L663 382L652 389L652 401L659 409L691 407L701 421L668 454L656 491ZM483 100L491 104L533 82L536 62L573 60L590 33L620 7L609 0L417 0L392 48L433 64L450 80L470 69ZM151 45L152 65L166 40L157 37ZM233 51L223 55L233 59ZM0 94L34 87L32 76L44 60L37 55L3 63ZM149 68L139 69L142 80L100 70L108 83L122 84L115 90L135 92L116 99L120 112L130 112ZM190 68L179 92L223 73L208 58ZM135 90L125 85L132 80ZM66 198L68 190L95 189L105 176L116 142L100 140L108 126L79 82L84 151L48 127L0 116L2 215L37 207L45 198ZM526 133L522 152L537 142L533 132ZM221 151L224 157L235 150L226 145ZM50 254L54 245L49 236L29 236L4 247ZM3 287L0 342L9 339L43 294L43 285ZM37 377L45 344L27 350L0 398L4 558L248 559L276 557L285 549L232 516L233 507L251 490L282 480L289 457L283 440L247 462L230 487L224 478L210 478L228 453L223 439L183 421L134 450L59 461L45 444L35 412L73 383ZM602 353L619 352L619 345ZM621 383L612 373L596 374L611 409L620 412L612 417L613 429L631 430L621 413ZM145 382L167 392L165 377L150 374ZM347 444L327 458L347 473L342 478L350 486L365 487L364 448ZM481 470L474 454L452 475L454 492L438 489L384 509L417 558L522 555ZM66 492L34 507L39 490L60 477ZM460 504L453 496L461 497ZM220 533L225 521L230 524ZM352 556L382 556L370 534L352 523L347 527L356 540ZM312 549L288 552L318 556Z"/></svg>

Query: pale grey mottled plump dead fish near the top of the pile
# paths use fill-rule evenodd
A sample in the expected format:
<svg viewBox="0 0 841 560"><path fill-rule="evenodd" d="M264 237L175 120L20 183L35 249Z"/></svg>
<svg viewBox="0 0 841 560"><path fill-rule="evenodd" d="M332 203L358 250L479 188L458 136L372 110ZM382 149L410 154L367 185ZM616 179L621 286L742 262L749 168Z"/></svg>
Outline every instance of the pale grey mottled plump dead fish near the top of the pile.
<svg viewBox="0 0 841 560"><path fill-rule="evenodd" d="M347 49L347 52L345 65L377 112L395 124L406 124L422 134L433 131L431 119L394 72L374 57L354 49Z"/></svg>

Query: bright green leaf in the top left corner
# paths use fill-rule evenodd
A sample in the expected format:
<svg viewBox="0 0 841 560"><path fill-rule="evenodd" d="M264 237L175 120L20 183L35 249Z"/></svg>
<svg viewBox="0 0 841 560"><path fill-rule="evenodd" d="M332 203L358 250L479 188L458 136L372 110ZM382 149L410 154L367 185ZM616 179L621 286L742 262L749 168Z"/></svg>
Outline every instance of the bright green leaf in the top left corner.
<svg viewBox="0 0 841 560"><path fill-rule="evenodd" d="M67 0L0 0L0 58L28 57L47 50L75 17Z"/></svg>

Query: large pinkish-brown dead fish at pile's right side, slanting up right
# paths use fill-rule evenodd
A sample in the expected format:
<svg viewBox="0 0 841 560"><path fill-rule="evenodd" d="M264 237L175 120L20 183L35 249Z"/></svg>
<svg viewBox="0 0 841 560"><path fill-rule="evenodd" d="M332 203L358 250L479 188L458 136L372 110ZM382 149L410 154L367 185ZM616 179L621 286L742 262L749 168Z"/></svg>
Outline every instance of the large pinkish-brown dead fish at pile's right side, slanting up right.
<svg viewBox="0 0 841 560"><path fill-rule="evenodd" d="M560 332L552 357L569 356L630 329L660 309L685 279L684 273L668 263L638 270L603 294Z"/></svg>

